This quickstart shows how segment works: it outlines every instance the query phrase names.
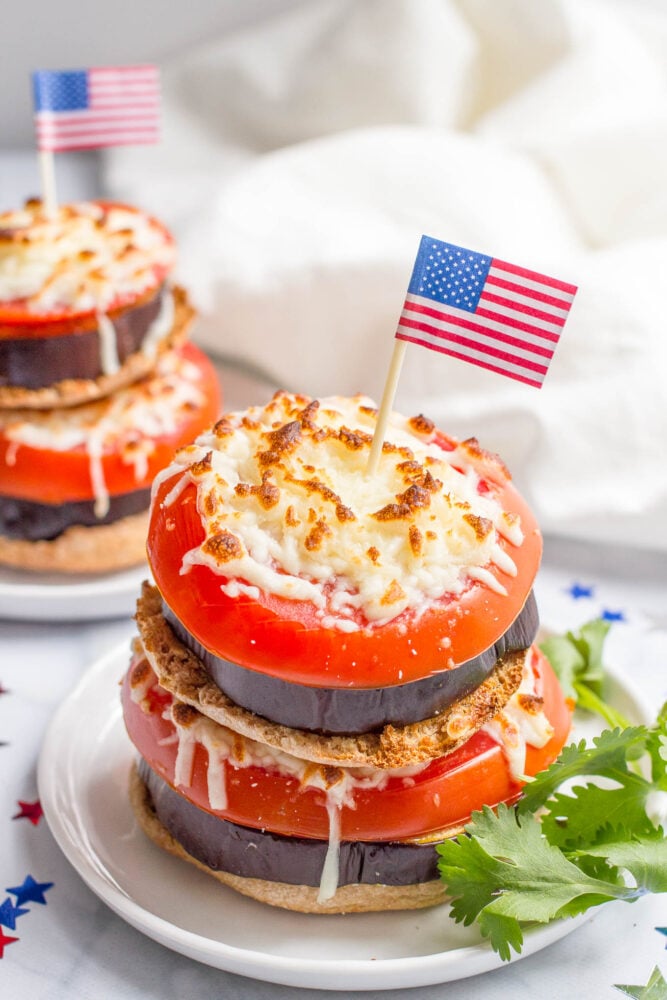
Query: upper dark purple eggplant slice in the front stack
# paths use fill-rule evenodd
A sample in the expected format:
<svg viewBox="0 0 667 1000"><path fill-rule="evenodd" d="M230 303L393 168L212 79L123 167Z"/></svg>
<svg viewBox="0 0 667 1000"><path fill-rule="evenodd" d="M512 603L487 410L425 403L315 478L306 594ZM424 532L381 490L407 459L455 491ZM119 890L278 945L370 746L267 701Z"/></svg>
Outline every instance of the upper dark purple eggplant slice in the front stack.
<svg viewBox="0 0 667 1000"><path fill-rule="evenodd" d="M505 634L458 667L390 687L326 688L294 684L223 660L197 642L164 601L162 613L180 642L233 702L270 722L323 736L380 732L386 725L406 726L438 715L479 687L506 653L527 649L539 628L531 591Z"/></svg>

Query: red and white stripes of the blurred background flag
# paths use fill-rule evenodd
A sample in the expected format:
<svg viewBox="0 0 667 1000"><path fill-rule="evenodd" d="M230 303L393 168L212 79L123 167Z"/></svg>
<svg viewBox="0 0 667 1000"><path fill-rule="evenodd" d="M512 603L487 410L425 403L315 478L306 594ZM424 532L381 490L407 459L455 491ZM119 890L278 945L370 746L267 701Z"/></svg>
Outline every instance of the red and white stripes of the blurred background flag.
<svg viewBox="0 0 667 1000"><path fill-rule="evenodd" d="M155 66L88 70L88 108L40 111L35 116L40 150L154 143L160 139L160 80Z"/></svg>

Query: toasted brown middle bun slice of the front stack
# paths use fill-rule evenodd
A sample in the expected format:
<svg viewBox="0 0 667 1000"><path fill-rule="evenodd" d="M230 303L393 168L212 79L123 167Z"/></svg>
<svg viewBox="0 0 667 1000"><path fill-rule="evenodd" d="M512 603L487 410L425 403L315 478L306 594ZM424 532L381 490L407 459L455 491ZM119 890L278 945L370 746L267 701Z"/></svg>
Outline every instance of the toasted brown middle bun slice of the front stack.
<svg viewBox="0 0 667 1000"><path fill-rule="evenodd" d="M507 654L478 688L440 715L377 733L322 736L271 722L223 694L165 621L156 587L144 583L135 617L146 658L161 686L180 701L258 743L332 766L397 768L451 753L504 707L521 683L527 655Z"/></svg>

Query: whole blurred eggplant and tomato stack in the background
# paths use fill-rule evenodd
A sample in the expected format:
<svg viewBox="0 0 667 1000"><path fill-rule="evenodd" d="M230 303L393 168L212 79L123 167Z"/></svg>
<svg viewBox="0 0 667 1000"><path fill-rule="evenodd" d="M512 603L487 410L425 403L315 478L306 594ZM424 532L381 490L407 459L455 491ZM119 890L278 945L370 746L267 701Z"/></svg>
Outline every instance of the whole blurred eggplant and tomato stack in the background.
<svg viewBox="0 0 667 1000"><path fill-rule="evenodd" d="M0 563L142 562L150 484L218 415L174 241L124 205L0 215Z"/></svg>

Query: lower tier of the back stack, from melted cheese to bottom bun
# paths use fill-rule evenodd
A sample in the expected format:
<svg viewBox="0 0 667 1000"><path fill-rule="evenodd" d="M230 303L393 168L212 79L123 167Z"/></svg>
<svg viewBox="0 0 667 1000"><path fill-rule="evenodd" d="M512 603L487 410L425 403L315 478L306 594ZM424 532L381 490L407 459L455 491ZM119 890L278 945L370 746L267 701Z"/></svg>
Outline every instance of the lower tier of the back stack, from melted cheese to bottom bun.
<svg viewBox="0 0 667 1000"><path fill-rule="evenodd" d="M0 563L62 573L144 563L153 477L218 407L212 364L185 343L105 399L0 409Z"/></svg>

